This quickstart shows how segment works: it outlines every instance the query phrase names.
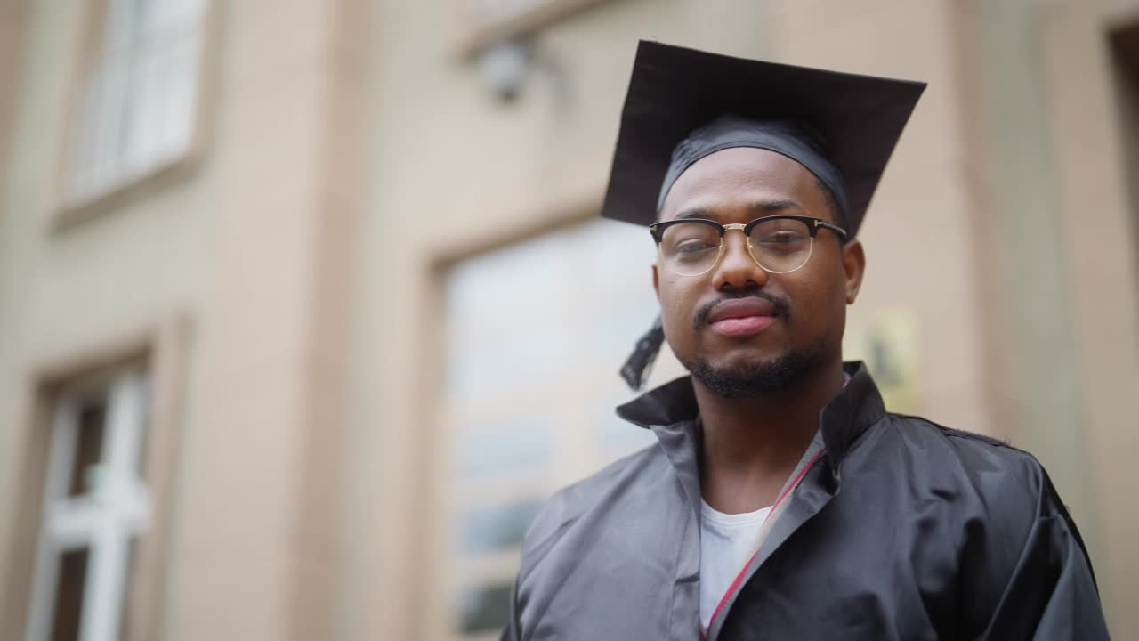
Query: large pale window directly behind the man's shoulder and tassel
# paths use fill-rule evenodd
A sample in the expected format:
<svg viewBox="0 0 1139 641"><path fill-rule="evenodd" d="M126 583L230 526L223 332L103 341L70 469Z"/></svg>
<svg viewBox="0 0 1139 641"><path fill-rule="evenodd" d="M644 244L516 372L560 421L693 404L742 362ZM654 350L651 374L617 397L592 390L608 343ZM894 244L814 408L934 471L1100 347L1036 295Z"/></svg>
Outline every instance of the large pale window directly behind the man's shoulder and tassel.
<svg viewBox="0 0 1139 641"><path fill-rule="evenodd" d="M656 443L614 407L658 306L648 232L597 220L458 263L448 282L451 633L497 639L526 528L556 488ZM683 374L667 349L650 384Z"/></svg>

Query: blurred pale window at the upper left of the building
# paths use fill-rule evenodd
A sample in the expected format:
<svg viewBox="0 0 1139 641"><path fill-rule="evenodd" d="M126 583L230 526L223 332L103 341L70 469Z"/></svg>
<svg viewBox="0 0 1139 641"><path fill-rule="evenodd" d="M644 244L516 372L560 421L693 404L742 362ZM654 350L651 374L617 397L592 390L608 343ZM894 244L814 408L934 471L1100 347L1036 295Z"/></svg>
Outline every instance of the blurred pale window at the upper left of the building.
<svg viewBox="0 0 1139 641"><path fill-rule="evenodd" d="M189 153L206 0L93 0L63 200L75 206Z"/></svg>

